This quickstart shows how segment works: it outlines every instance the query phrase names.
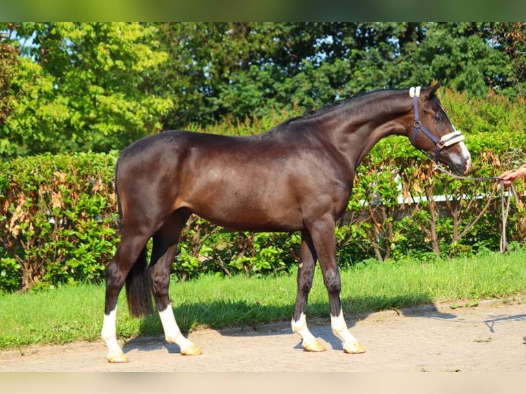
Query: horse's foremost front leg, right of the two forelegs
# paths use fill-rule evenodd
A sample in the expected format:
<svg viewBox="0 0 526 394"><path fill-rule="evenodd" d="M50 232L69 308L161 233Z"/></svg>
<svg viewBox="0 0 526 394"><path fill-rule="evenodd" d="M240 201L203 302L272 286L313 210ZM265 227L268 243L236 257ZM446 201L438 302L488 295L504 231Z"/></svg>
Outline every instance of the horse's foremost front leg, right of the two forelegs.
<svg viewBox="0 0 526 394"><path fill-rule="evenodd" d="M345 323L345 318L343 317L340 299L341 279L336 263L334 221L326 220L325 222L318 222L312 227L311 236L319 258L321 272L323 273L323 283L325 283L329 294L332 332L341 339L343 350L347 353L364 353L365 349L349 332L347 323Z"/></svg>

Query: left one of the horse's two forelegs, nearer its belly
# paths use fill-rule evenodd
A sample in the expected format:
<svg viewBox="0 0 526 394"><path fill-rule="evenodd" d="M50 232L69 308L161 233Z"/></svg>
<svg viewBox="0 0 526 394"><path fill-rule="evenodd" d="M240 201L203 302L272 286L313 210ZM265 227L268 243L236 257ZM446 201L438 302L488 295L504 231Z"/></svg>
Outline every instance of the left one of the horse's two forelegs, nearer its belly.
<svg viewBox="0 0 526 394"><path fill-rule="evenodd" d="M297 275L298 290L291 325L293 332L301 336L301 346L307 351L325 350L321 343L319 343L319 340L317 340L308 329L306 321L307 300L310 288L312 288L312 277L314 277L316 259L316 252L314 246L312 246L310 234L308 231L304 231L301 233Z"/></svg>

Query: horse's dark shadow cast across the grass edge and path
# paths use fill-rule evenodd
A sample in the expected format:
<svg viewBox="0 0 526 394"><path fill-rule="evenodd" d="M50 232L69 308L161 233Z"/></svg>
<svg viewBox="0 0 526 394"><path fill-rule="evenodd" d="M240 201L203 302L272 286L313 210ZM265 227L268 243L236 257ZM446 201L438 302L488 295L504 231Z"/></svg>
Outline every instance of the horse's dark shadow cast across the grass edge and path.
<svg viewBox="0 0 526 394"><path fill-rule="evenodd" d="M418 297L420 304L424 306L416 309L398 308L396 305L400 305L400 298L384 299L382 305L386 305L385 310L393 310L406 317L423 315L440 319L456 317L455 314L440 312L425 294L418 294ZM374 298L378 301L378 297ZM352 305L367 305L369 301L366 298L342 299L343 310L351 311L345 316L347 327L352 329L358 321L365 320L377 312L352 312ZM216 300L211 303L190 303L177 306L174 308L174 315L185 336L188 335L190 327L209 327L216 329L222 336L280 336L292 332L290 318L293 316L293 310L293 305L271 306L261 305L257 302ZM309 303L308 313L310 332L315 337L321 338L332 349L343 350L341 341L332 334L330 328L328 303ZM262 321L260 316L271 316L272 323L268 323L268 321L253 323L254 321ZM221 323L216 326L216 323L221 321L236 321L237 323L235 327L222 327ZM294 348L302 349L299 337ZM180 352L179 346L165 342L158 314L144 318L139 329L139 336L128 340L123 347L125 353L133 349L140 349L141 351L166 349L168 353Z"/></svg>

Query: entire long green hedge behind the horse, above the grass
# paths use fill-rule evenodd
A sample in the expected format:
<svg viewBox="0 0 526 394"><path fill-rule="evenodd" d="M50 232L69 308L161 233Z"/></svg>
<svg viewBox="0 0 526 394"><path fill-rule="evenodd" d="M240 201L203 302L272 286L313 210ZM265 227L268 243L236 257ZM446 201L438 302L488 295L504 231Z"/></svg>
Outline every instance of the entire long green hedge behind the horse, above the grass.
<svg viewBox="0 0 526 394"><path fill-rule="evenodd" d="M444 107L466 133L472 176L498 175L526 162L524 103L501 97L468 101L444 91ZM213 132L246 135L294 114L218 125ZM113 172L118 153L19 157L0 164L0 289L28 290L58 283L98 282L118 242ZM516 187L524 196L525 182ZM447 196L442 201L440 196ZM400 204L400 198L407 198ZM524 200L512 203L507 237L526 239ZM339 223L340 266L368 259L499 250L500 188L458 181L437 172L407 139L389 137L358 167L349 210ZM183 233L173 275L251 275L288 270L299 234L231 233L192 217Z"/></svg>

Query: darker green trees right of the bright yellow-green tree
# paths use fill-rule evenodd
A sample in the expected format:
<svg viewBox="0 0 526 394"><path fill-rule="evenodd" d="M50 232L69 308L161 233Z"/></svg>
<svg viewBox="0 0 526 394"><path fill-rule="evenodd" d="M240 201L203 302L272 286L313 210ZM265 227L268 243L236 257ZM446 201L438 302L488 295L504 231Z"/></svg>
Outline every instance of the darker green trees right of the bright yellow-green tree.
<svg viewBox="0 0 526 394"><path fill-rule="evenodd" d="M512 94L495 23L164 23L154 81L167 128L317 108L374 89L445 86ZM509 31L509 29L507 30ZM503 34L501 34L502 36ZM509 36L508 36L509 38Z"/></svg>

